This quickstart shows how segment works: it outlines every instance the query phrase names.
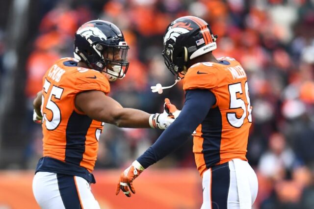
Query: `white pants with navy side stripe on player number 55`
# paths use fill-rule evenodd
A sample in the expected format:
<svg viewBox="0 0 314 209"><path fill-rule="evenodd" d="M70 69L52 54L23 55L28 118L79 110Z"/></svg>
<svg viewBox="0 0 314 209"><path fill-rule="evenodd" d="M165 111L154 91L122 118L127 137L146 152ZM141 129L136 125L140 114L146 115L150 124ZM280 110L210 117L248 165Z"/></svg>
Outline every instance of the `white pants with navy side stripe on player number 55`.
<svg viewBox="0 0 314 209"><path fill-rule="evenodd" d="M100 209L89 183L78 176L37 172L33 194L42 209Z"/></svg>

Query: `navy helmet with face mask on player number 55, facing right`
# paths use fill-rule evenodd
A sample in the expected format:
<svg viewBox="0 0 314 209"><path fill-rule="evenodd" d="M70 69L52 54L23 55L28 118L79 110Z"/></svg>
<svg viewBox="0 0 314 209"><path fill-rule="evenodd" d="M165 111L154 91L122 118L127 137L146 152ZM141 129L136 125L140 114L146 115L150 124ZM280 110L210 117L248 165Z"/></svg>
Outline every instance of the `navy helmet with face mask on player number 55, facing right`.
<svg viewBox="0 0 314 209"><path fill-rule="evenodd" d="M127 73L129 49L122 31L107 21L87 22L75 33L75 58L91 69L105 72L110 81L123 78Z"/></svg>

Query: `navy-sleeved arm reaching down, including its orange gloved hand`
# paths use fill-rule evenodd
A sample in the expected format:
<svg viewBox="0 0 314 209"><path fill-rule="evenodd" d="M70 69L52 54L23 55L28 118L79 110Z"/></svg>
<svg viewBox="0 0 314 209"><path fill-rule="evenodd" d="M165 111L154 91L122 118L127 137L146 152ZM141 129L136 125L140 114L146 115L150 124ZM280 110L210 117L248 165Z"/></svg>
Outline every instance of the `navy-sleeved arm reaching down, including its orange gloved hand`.
<svg viewBox="0 0 314 209"><path fill-rule="evenodd" d="M201 101L201 102L200 102ZM128 189L135 193L132 181L147 167L167 156L180 147L197 126L203 122L216 98L209 90L187 90L185 103L178 118L162 132L157 141L146 152L135 160L120 176L116 194L120 189L131 196ZM134 172L136 170L136 172ZM135 173L137 175L135 175Z"/></svg>

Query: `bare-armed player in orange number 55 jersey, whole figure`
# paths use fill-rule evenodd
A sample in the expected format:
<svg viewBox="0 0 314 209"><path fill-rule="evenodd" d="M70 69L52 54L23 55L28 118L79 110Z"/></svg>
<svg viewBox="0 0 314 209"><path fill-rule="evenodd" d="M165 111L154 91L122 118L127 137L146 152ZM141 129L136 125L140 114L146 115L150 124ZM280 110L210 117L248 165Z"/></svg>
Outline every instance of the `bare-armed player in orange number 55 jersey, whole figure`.
<svg viewBox="0 0 314 209"><path fill-rule="evenodd" d="M165 129L174 119L123 108L106 96L109 81L123 78L129 62L122 31L94 20L75 34L75 58L62 58L43 77L34 100L34 121L42 123L43 157L33 193L43 209L99 209L90 190L98 140L104 123L128 128ZM166 107L172 107L169 101ZM168 108L171 109L171 108Z"/></svg>

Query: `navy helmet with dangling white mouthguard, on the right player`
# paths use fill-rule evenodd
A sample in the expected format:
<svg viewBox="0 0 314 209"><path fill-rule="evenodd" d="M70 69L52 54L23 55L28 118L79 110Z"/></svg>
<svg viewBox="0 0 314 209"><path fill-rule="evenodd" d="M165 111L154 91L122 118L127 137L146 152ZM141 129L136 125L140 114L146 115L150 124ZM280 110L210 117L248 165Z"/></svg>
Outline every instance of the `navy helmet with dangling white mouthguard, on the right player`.
<svg viewBox="0 0 314 209"><path fill-rule="evenodd" d="M189 60L217 48L217 36L201 18L184 16L173 21L163 37L162 55L167 68L176 77L186 73Z"/></svg>

